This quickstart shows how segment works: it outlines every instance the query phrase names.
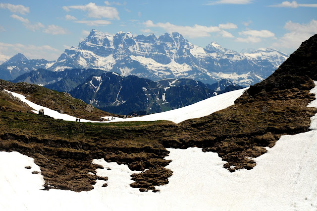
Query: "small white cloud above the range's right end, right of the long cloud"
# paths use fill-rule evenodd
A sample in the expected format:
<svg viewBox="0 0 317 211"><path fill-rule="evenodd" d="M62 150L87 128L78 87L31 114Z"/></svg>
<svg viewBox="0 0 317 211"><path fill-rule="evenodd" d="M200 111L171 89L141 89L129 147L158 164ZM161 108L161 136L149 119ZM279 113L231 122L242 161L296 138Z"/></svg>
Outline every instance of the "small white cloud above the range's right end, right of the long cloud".
<svg viewBox="0 0 317 211"><path fill-rule="evenodd" d="M262 41L261 38L275 38L275 34L268 30L247 30L238 33L244 37L238 37L235 41L244 43L259 43Z"/></svg>

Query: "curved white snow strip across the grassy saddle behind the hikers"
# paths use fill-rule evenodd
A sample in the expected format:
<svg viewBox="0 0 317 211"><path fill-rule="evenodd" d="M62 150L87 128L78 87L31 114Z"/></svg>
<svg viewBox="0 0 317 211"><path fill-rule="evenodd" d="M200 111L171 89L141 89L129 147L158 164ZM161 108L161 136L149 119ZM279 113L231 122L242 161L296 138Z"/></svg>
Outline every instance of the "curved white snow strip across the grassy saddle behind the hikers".
<svg viewBox="0 0 317 211"><path fill-rule="evenodd" d="M195 104L171 110L156 114L150 114L143 117L132 117L127 119L121 119L118 117L115 117L114 120L111 120L112 117L103 117L105 119L109 118L109 121L106 122L98 122L98 121L90 121L85 119L80 119L80 122L94 122L94 123L110 123L110 122L130 122L130 121L156 121L156 120L168 120L172 121L174 123L180 123L182 121L192 119L192 118L200 118L207 115L210 115L213 112L219 111L221 109L224 109L228 106L231 106L234 104L234 101L240 97L245 91L245 89L239 89L235 91L226 92L214 97L210 97L206 100L197 102ZM7 91L7 90L5 90ZM53 117L55 119L62 119L67 121L76 121L76 117L67 115L67 114L60 114L57 111L53 111L52 109L37 105L35 103L32 103L31 101L25 99L25 97L21 94L7 91L11 93L13 96L18 97L21 99L21 101L27 103L30 107L34 108L36 111L35 113L38 113L40 109L44 109L44 114L48 115L50 117Z"/></svg>

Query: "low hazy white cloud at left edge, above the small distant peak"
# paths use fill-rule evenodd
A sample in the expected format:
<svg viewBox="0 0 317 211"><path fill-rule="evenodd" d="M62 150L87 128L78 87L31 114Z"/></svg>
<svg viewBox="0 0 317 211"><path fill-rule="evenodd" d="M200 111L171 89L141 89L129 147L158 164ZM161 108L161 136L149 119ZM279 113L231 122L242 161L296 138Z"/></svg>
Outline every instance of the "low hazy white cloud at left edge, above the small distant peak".
<svg viewBox="0 0 317 211"><path fill-rule="evenodd" d="M22 45L20 43L10 44L0 42L0 51L5 55L15 55L17 53L22 53L30 59L47 59L56 60L60 51L49 46L49 45ZM60 53L59 53L60 52Z"/></svg>

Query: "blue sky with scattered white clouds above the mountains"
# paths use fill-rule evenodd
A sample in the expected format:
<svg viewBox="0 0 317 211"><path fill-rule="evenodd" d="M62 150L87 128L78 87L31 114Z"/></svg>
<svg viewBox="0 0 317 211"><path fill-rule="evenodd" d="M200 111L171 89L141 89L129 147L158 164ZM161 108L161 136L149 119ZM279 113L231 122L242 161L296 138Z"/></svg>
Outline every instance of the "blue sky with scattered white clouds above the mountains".
<svg viewBox="0 0 317 211"><path fill-rule="evenodd" d="M0 54L56 60L89 31L177 31L191 43L292 53L317 33L317 0L0 0Z"/></svg>

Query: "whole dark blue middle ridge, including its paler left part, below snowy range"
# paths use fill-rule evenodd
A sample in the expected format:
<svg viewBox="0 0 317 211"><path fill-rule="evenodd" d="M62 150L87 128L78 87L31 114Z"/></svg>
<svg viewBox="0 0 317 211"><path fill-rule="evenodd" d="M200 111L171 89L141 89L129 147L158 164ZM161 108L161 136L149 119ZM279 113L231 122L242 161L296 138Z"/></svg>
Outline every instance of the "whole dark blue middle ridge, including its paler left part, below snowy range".
<svg viewBox="0 0 317 211"><path fill-rule="evenodd" d="M151 114L184 107L218 93L241 89L229 80L215 84L180 78L157 82L137 76L122 76L95 69L24 73L12 82L34 83L72 96L95 107L117 114ZM78 86L78 87L77 87ZM224 89L228 87L226 91Z"/></svg>

